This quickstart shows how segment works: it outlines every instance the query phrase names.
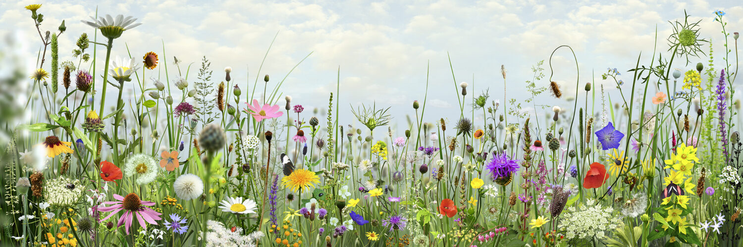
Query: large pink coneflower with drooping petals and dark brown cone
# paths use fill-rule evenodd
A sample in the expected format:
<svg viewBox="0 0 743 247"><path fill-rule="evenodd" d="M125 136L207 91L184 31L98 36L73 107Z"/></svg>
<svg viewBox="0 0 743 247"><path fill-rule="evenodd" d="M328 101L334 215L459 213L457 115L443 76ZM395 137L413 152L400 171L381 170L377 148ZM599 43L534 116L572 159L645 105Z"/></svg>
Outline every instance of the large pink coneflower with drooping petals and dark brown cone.
<svg viewBox="0 0 743 247"><path fill-rule="evenodd" d="M126 197L122 197L118 194L114 194L114 199L119 200L118 202L103 202L103 204L113 204L108 207L100 207L98 208L98 211L101 212L108 212L111 211L111 214L108 214L106 218L103 218L101 221L108 220L111 216L114 216L119 211L124 211L124 215L122 215L119 218L119 223L117 225L121 226L124 223L126 223L126 234L129 234L129 227L132 227L132 221L134 220L134 216L137 217L137 221L140 223L142 228L147 228L145 225L145 222L150 223L152 225L158 225L158 223L155 222L155 220L160 220L160 213L156 212L155 210L152 210L152 208L147 208L145 206L152 206L155 205L155 202L148 202L140 200L139 196L134 193L129 193L126 195Z"/></svg>

